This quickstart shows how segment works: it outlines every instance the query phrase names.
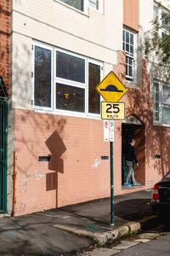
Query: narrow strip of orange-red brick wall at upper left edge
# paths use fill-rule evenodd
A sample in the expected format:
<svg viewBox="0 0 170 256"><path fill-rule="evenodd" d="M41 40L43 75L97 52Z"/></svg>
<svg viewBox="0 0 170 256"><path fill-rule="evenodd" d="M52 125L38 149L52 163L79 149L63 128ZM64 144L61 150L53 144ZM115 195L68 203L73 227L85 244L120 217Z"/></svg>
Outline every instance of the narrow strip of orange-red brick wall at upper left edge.
<svg viewBox="0 0 170 256"><path fill-rule="evenodd" d="M9 84L9 33L10 33L10 1L0 1L0 75L6 89Z"/></svg>

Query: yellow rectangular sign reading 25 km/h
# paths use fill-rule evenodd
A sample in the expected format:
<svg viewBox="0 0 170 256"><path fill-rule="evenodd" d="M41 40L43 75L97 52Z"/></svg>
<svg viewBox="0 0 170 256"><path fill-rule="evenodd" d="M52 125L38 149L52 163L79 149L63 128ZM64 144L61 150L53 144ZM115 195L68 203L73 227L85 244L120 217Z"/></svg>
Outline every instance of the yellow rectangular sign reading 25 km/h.
<svg viewBox="0 0 170 256"><path fill-rule="evenodd" d="M125 102L101 102L101 119L125 119Z"/></svg>

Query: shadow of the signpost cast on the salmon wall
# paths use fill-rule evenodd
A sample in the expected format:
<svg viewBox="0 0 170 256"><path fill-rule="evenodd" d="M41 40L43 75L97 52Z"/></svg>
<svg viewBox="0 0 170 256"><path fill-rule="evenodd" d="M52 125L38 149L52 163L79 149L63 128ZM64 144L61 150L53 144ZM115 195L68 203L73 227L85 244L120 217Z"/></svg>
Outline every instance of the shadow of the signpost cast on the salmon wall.
<svg viewBox="0 0 170 256"><path fill-rule="evenodd" d="M57 131L54 131L45 143L51 152L51 160L48 162L48 170L54 171L46 174L46 191L56 189L57 207L58 172L64 173L64 162L61 159L61 156L65 153L66 148Z"/></svg>

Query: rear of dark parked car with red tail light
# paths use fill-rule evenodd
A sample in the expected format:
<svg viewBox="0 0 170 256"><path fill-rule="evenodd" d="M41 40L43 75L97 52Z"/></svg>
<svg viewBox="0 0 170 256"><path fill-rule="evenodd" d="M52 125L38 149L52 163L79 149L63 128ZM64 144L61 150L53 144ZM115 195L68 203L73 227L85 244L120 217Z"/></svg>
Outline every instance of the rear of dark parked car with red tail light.
<svg viewBox="0 0 170 256"><path fill-rule="evenodd" d="M153 212L164 220L170 216L170 171L154 186L151 206Z"/></svg>

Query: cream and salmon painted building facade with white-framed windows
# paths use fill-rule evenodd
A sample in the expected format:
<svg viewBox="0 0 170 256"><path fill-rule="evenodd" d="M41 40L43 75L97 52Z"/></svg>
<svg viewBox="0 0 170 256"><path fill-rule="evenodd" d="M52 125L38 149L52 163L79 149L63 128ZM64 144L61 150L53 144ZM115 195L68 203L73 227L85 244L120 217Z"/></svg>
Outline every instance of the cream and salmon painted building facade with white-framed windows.
<svg viewBox="0 0 170 256"><path fill-rule="evenodd" d="M115 121L115 195L150 189L167 173L169 102L158 94L170 87L138 49L157 9L152 0L12 1L7 212L110 196L110 145L95 87L111 70L127 88L126 118ZM142 186L129 190L122 184L130 137Z"/></svg>

